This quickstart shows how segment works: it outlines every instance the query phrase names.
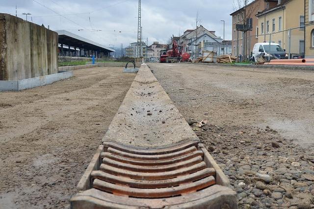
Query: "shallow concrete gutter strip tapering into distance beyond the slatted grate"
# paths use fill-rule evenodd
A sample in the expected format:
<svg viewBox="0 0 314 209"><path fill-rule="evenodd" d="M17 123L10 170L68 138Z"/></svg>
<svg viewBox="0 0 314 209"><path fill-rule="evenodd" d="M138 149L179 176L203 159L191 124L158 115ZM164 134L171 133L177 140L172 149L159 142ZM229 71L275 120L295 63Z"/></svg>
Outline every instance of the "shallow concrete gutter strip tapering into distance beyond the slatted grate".
<svg viewBox="0 0 314 209"><path fill-rule="evenodd" d="M154 74L143 64L103 142L160 148L188 140L199 141Z"/></svg>

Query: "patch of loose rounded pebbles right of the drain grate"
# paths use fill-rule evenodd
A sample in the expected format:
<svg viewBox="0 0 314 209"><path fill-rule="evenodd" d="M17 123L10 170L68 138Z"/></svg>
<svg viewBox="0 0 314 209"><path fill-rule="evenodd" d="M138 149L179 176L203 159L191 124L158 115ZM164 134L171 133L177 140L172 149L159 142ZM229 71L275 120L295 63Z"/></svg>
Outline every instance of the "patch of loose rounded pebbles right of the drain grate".
<svg viewBox="0 0 314 209"><path fill-rule="evenodd" d="M313 150L295 147L269 127L252 132L187 122L230 179L239 208L314 208Z"/></svg>

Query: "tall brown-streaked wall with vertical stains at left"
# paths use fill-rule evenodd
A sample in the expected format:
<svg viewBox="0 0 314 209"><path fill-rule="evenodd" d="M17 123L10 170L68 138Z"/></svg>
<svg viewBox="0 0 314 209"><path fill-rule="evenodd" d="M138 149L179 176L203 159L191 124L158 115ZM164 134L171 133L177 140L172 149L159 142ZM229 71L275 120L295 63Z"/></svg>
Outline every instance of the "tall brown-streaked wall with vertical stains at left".
<svg viewBox="0 0 314 209"><path fill-rule="evenodd" d="M18 81L58 72L58 34L0 13L0 80Z"/></svg>

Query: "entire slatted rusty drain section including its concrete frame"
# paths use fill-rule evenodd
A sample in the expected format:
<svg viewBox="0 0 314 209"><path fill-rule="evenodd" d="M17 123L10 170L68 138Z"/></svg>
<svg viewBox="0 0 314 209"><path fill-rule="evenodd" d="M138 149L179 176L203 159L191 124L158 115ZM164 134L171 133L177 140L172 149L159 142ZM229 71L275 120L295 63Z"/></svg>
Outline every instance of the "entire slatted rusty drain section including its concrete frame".
<svg viewBox="0 0 314 209"><path fill-rule="evenodd" d="M236 193L198 141L162 149L104 142L97 153L72 209L236 208Z"/></svg>

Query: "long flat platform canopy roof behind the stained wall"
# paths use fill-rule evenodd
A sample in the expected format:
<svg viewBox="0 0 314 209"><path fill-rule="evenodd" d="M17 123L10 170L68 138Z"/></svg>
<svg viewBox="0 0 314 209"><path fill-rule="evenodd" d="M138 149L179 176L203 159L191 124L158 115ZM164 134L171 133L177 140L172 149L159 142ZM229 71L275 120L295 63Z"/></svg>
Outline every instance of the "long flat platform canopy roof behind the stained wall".
<svg viewBox="0 0 314 209"><path fill-rule="evenodd" d="M67 45L67 46L74 46L79 48L84 48L88 50L97 50L97 51L108 51L108 52L115 52L113 48L109 48L93 42L91 40L85 39L80 37L74 33L71 33L66 30L56 30L55 32L59 35L59 44Z"/></svg>

